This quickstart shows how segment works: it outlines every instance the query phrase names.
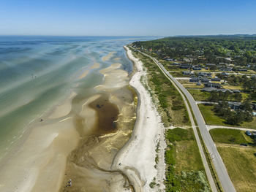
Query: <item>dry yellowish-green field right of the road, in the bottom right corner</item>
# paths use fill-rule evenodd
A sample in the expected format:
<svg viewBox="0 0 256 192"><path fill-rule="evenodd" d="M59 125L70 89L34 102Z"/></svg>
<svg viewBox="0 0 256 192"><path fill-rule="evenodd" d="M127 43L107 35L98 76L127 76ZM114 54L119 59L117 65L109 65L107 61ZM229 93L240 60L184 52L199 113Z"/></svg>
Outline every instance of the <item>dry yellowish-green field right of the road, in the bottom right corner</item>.
<svg viewBox="0 0 256 192"><path fill-rule="evenodd" d="M254 192L256 188L256 148L217 147L238 192Z"/></svg>

